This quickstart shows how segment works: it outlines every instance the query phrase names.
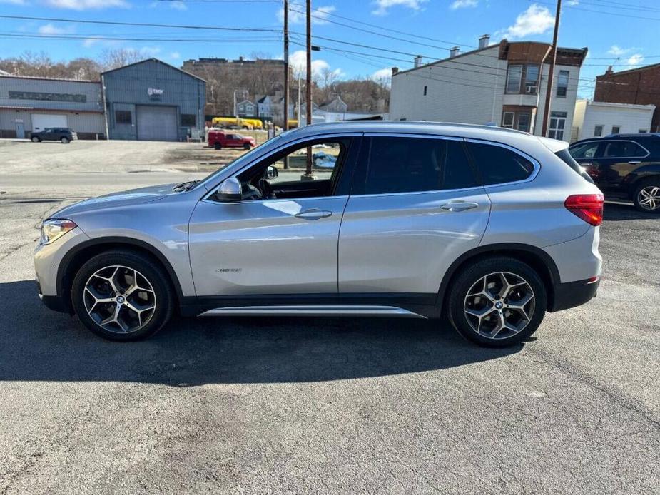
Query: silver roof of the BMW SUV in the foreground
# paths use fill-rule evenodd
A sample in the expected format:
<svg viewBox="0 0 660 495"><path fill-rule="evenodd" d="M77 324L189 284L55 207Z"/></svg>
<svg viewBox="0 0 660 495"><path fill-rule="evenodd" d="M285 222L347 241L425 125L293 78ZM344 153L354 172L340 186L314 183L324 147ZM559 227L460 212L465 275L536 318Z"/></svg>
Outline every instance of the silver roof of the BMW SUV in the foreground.
<svg viewBox="0 0 660 495"><path fill-rule="evenodd" d="M341 121L332 123L315 123L309 126L295 128L286 136L293 138L313 137L323 133L360 132L360 133L402 133L430 134L435 136L450 136L460 138L480 139L504 143L525 150L535 146L545 146L553 153L568 147L565 141L549 138L539 138L529 133L495 126L482 126L468 123L427 122L427 121Z"/></svg>

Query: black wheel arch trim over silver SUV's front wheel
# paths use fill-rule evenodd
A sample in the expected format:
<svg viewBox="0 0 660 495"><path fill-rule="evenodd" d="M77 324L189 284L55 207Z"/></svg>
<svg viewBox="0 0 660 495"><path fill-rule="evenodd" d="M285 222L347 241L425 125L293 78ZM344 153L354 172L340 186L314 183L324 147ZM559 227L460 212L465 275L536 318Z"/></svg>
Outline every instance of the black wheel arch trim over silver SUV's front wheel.
<svg viewBox="0 0 660 495"><path fill-rule="evenodd" d="M73 248L66 253L64 259L59 265L59 270L57 272L57 294L62 296L62 300L67 305L66 309L69 312L73 312L73 306L71 304L71 285L73 284L73 279L76 277L78 270L81 269L85 262L91 260L92 257L101 254L102 252L117 250L138 253L148 257L153 260L153 262L156 262L156 264L164 270L166 278L169 280L173 292L176 295L176 302L180 303L183 300L183 291L181 290L181 284L178 281L178 277L176 277L176 272L165 255L163 255L158 249L148 243L136 239L99 238L89 240L86 243L81 243L76 246L76 248Z"/></svg>

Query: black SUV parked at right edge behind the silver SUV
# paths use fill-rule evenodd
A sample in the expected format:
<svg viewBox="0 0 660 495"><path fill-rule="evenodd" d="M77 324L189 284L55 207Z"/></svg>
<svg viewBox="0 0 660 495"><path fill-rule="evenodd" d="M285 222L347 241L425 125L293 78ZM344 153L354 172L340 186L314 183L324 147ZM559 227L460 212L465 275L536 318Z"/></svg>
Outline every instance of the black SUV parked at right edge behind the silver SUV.
<svg viewBox="0 0 660 495"><path fill-rule="evenodd" d="M660 133L611 134L573 143L572 157L609 198L660 213Z"/></svg>

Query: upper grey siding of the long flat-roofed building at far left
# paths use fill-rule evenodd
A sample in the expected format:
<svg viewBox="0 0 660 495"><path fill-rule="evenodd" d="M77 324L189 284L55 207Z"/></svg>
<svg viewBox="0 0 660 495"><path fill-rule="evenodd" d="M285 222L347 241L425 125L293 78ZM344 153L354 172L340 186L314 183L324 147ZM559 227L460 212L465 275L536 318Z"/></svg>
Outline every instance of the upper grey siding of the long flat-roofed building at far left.
<svg viewBox="0 0 660 495"><path fill-rule="evenodd" d="M11 93L11 98L10 98ZM18 93L18 94L17 94ZM39 93L42 98L21 98ZM71 101L58 101L69 98ZM74 101L74 100L85 100ZM101 83L58 81L23 77L0 77L0 106L53 108L71 111L103 111Z"/></svg>

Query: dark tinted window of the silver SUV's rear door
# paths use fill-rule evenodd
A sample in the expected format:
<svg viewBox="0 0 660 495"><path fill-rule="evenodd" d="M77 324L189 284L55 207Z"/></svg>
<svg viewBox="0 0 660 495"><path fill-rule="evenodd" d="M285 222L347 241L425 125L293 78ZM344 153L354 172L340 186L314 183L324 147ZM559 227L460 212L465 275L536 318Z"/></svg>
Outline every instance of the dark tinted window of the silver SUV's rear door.
<svg viewBox="0 0 660 495"><path fill-rule="evenodd" d="M476 185L462 141L382 137L369 138L365 144L369 158L360 193L414 193Z"/></svg>

